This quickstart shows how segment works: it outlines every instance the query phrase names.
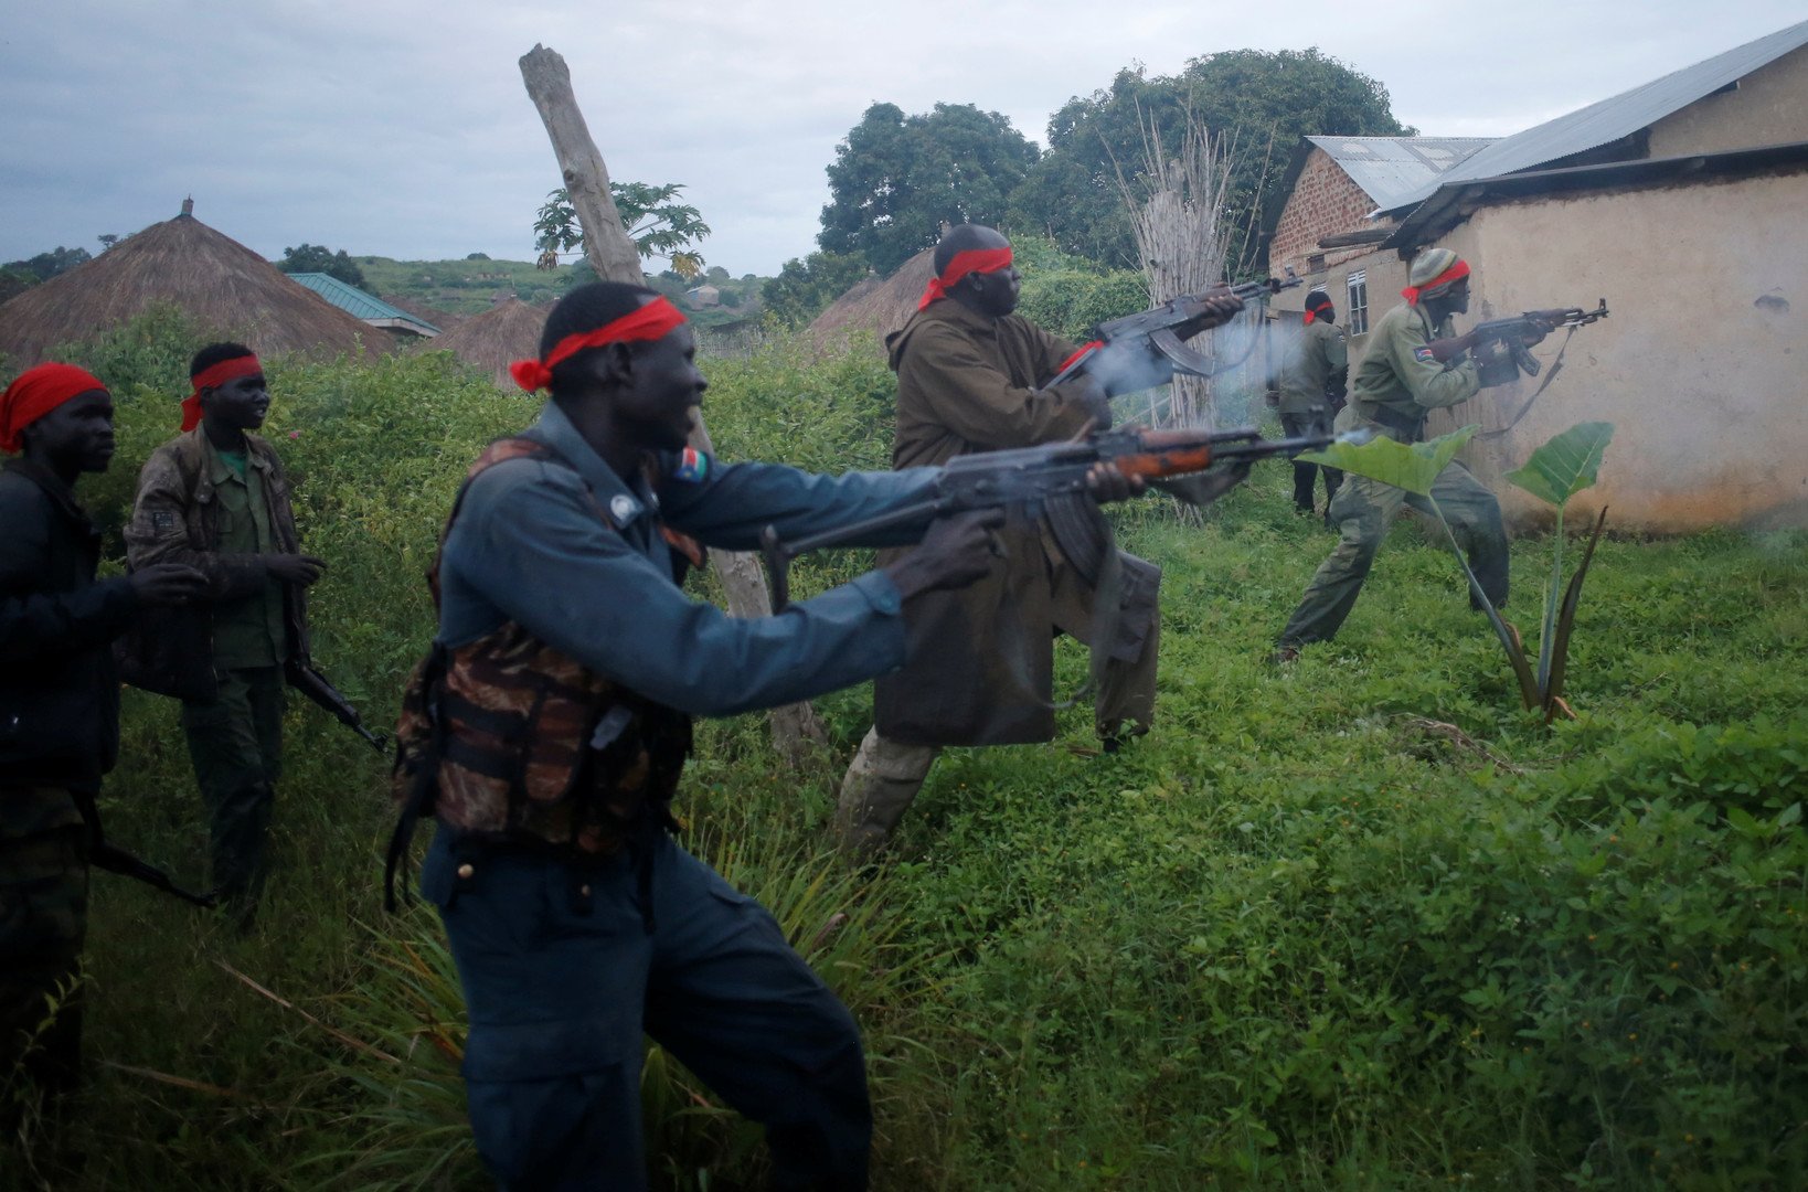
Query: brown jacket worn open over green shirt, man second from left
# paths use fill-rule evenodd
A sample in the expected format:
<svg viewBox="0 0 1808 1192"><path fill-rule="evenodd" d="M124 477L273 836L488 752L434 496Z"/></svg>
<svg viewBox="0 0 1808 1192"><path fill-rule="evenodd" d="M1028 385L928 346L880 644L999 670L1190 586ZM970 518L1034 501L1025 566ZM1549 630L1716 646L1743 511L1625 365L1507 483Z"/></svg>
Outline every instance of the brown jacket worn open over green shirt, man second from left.
<svg viewBox="0 0 1808 1192"><path fill-rule="evenodd" d="M269 572L257 555L219 550L221 510L213 481L208 478L204 434L204 427L186 430L145 461L145 470L137 478L137 503L125 528L127 559L134 570L152 563L186 563L208 577L215 601L231 601L257 593L269 581ZM282 472L282 461L260 436L246 434L244 441L246 463L264 479L264 501L277 552L300 553L289 479ZM306 588L284 586L284 611L289 657L306 658Z"/></svg>

